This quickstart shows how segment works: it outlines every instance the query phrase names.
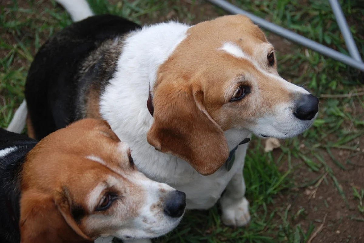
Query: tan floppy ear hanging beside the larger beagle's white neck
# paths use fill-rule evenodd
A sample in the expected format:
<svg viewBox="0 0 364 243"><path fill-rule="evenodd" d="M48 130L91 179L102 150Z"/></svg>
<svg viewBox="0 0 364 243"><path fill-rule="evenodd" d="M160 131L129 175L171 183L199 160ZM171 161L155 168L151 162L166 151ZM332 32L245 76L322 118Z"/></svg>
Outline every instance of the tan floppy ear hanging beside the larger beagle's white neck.
<svg viewBox="0 0 364 243"><path fill-rule="evenodd" d="M223 131L203 107L201 90L172 85L155 89L147 140L156 150L186 160L198 173L213 174L229 156Z"/></svg>

